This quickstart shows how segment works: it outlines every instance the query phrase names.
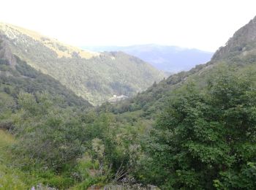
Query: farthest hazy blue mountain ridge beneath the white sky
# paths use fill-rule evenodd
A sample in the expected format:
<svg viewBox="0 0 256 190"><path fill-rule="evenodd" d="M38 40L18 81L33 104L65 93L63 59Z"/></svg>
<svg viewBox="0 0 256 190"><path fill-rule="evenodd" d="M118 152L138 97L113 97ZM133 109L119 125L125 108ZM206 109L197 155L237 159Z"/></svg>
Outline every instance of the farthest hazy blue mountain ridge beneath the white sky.
<svg viewBox="0 0 256 190"><path fill-rule="evenodd" d="M210 61L213 55L213 53L203 50L154 44L132 45L127 47L92 46L82 48L98 52L120 50L129 55L141 58L143 61L148 62L159 70L171 73L187 71L197 64L204 64Z"/></svg>

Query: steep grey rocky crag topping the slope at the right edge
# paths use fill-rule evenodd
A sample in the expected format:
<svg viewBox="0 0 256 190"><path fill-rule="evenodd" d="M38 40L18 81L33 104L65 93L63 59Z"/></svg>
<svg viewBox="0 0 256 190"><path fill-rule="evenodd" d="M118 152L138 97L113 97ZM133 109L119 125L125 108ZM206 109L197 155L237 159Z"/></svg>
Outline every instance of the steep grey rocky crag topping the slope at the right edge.
<svg viewBox="0 0 256 190"><path fill-rule="evenodd" d="M211 61L218 61L220 59L228 58L228 56L236 56L242 53L246 56L256 49L256 17L249 21L245 26L240 28L231 37L225 47L220 47Z"/></svg>

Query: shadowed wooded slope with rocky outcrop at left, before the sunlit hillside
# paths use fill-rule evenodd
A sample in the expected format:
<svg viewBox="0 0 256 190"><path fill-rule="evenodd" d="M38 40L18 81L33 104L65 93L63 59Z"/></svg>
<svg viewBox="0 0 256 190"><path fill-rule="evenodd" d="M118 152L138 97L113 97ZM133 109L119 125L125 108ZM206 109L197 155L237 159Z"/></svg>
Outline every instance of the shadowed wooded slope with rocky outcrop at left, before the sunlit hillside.
<svg viewBox="0 0 256 190"><path fill-rule="evenodd" d="M20 92L35 94L48 92L63 99L63 106L91 107L85 99L75 95L59 81L32 68L26 61L12 54L4 37L0 34L0 105L12 104L15 107ZM62 100L61 100L62 101ZM1 110L1 109L0 109Z"/></svg>

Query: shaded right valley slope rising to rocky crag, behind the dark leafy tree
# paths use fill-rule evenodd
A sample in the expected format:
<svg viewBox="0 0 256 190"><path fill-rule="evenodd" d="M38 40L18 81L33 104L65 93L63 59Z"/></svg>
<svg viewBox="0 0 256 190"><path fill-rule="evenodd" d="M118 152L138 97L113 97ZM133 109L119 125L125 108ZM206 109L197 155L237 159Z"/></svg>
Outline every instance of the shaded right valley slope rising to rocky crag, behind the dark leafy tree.
<svg viewBox="0 0 256 190"><path fill-rule="evenodd" d="M225 66L236 75L241 75L246 70L256 73L256 17L238 29L224 47L219 47L211 61L197 65L187 72L170 75L132 99L117 104L113 112L125 114L135 111L139 113L137 117L151 118L165 107L174 89L181 88L187 81L193 81L198 88L202 88L206 85L209 76L217 77L219 70ZM252 77L250 80L256 79Z"/></svg>

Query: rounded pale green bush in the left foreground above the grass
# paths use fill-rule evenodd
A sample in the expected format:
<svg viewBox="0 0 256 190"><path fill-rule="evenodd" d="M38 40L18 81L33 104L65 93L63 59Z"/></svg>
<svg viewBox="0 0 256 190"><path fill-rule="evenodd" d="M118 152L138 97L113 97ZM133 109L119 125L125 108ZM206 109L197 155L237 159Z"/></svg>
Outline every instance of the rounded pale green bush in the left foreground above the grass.
<svg viewBox="0 0 256 190"><path fill-rule="evenodd" d="M53 107L48 94L34 97L23 93L18 96L18 104L23 118L15 122L15 134L21 142L18 151L55 169L80 155L86 128L79 118Z"/></svg>

